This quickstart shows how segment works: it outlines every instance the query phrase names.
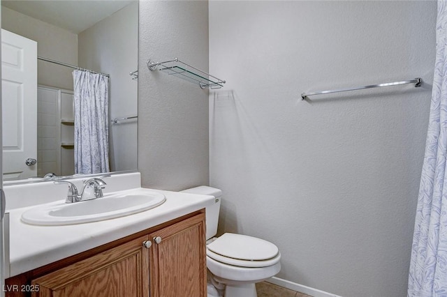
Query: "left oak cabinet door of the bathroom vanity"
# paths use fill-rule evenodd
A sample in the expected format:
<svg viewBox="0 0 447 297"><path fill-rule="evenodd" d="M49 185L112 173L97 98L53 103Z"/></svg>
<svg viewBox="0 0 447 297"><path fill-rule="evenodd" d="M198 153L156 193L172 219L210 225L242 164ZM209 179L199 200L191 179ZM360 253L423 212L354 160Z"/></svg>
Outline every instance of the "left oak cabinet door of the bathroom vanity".
<svg viewBox="0 0 447 297"><path fill-rule="evenodd" d="M147 236L61 268L31 282L32 296L149 297Z"/></svg>

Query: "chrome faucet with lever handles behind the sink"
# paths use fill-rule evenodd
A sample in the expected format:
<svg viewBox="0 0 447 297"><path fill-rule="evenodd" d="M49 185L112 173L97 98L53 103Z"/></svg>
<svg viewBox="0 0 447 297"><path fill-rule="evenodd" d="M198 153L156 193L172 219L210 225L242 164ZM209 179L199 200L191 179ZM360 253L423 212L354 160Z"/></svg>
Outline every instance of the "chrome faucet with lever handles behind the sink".
<svg viewBox="0 0 447 297"><path fill-rule="evenodd" d="M100 178L89 178L84 181L84 188L82 188L79 194L78 188L70 181L54 181L55 185L60 185L62 183L68 184L68 193L65 203L74 203L78 201L86 201L91 199L96 199L103 197L103 189L105 188L105 181L103 178L110 177L110 175L101 176Z"/></svg>

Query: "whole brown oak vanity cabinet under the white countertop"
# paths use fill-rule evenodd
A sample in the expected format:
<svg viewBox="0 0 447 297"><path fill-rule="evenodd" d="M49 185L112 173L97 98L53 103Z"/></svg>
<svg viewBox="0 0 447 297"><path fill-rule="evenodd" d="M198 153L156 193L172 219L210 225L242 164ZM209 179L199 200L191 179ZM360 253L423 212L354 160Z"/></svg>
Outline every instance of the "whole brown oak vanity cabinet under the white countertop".
<svg viewBox="0 0 447 297"><path fill-rule="evenodd" d="M206 297L206 273L202 210L11 277L6 284L25 284L35 297Z"/></svg>

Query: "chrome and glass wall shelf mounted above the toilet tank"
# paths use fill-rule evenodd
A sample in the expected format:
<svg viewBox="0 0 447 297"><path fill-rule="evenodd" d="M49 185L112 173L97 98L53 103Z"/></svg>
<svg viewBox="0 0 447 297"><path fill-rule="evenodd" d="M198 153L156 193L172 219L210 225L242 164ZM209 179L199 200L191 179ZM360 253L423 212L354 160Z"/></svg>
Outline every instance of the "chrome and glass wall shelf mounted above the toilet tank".
<svg viewBox="0 0 447 297"><path fill-rule="evenodd" d="M159 68L159 66L161 68ZM147 68L152 71L159 69L164 73L168 73L168 75L174 75L176 77L186 79L189 82L198 84L202 89L220 89L223 84L225 84L225 81L223 79L219 79L215 76L205 73L204 71L196 67L179 61L179 59L177 58L164 62L155 62L149 60L147 61Z"/></svg>

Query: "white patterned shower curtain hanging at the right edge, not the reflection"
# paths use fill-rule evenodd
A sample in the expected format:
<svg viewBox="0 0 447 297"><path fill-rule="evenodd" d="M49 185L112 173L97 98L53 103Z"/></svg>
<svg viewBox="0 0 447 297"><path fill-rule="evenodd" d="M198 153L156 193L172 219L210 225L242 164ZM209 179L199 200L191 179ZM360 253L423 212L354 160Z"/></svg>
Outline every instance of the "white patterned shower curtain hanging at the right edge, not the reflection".
<svg viewBox="0 0 447 297"><path fill-rule="evenodd" d="M436 64L408 296L447 296L447 2L438 1ZM444 190L444 188L446 188Z"/></svg>

